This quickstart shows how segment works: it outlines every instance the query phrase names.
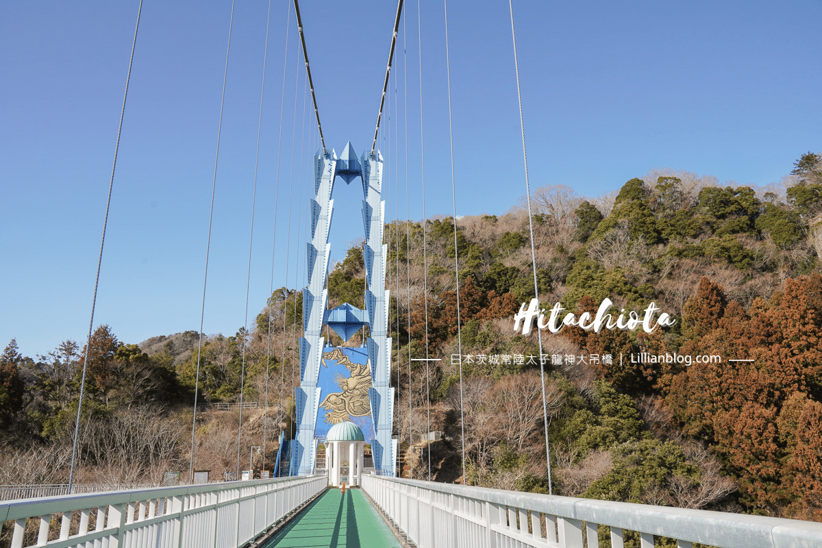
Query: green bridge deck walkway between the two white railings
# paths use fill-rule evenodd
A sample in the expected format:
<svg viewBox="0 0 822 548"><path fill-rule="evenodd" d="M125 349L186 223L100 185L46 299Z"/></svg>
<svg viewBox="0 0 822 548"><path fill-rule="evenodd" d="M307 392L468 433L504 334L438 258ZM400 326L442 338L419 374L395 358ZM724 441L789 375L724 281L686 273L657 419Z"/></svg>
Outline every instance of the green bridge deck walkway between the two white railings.
<svg viewBox="0 0 822 548"><path fill-rule="evenodd" d="M360 490L329 489L263 548L284 546L399 548L399 541Z"/></svg>

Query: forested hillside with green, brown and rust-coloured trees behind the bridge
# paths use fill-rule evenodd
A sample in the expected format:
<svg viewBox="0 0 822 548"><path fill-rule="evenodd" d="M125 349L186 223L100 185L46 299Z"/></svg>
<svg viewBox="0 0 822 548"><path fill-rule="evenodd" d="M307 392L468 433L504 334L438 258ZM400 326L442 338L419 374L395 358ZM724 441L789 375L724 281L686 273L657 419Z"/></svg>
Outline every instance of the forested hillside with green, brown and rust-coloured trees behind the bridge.
<svg viewBox="0 0 822 548"><path fill-rule="evenodd" d="M598 198L542 187L531 205L543 308L595 313L610 298L618 315L655 302L677 323L545 330L540 352L537 329L524 336L513 321L533 297L524 200L459 219L456 237L454 219L389 223L395 431L404 448L410 434L445 432L413 475L427 477L430 449L437 480L547 492L542 353L557 494L822 520L820 154L802 154L768 188L652 171ZM329 306L363 307L364 284L353 246L330 273ZM238 401L242 384L245 401L271 407L246 412L239 449L237 411L199 414L195 467L232 472L264 431L274 458L293 412L301 296L280 288L253 329L206 337L201 352L196 332L136 345L96 329L81 479L187 471L198 375L201 403ZM30 470L0 483L67 476L85 352L71 341L34 359L14 341L3 352L0 469ZM718 360L687 361L698 356ZM441 361L410 361L419 357Z"/></svg>

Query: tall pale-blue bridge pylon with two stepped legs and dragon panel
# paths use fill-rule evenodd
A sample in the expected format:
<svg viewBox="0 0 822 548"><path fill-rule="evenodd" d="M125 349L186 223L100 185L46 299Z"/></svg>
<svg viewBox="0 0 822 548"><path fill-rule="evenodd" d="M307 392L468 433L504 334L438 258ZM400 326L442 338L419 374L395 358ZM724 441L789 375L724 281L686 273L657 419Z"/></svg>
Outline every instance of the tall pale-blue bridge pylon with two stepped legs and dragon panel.
<svg viewBox="0 0 822 548"><path fill-rule="evenodd" d="M382 195L383 159L379 151L366 152L358 158L350 141L337 157L334 150L320 150L314 156L314 197L311 199L311 242L307 243L307 287L302 290L303 337L300 338L300 385L294 389L298 433L293 442L291 475L311 474L316 467L316 436L321 435L332 423L370 416L373 426L372 454L376 473L382 476L395 475L396 443L391 438L394 417L394 392L390 386L391 338L388 336L389 294L386 290L387 246L382 243L385 223L385 202ZM328 289L326 279L330 259L328 237L331 216L334 210L335 179L340 177L346 184L360 178L363 183L363 228L365 245L363 262L366 271L365 310L345 303L333 310L327 310ZM348 364L349 382L339 394L323 394L320 382L321 369L335 348L326 347L322 328L328 325L336 334L347 340L367 325L369 337L364 339L360 354L367 356L367 372L360 366L363 375L355 378L358 371L356 357L337 358ZM351 348L340 348L351 354ZM356 352L355 352L356 353ZM325 356L324 356L325 355ZM326 360L326 361L324 361ZM338 374L339 375L339 374ZM337 377L336 382L339 382ZM370 385L369 385L370 384ZM349 390L350 385L356 385ZM367 391L366 391L367 388ZM329 390L328 384L325 385ZM330 396L330 397L329 397ZM342 408L334 408L332 403L344 402ZM320 406L329 409L326 417L318 420ZM368 429L371 430L371 429ZM366 429L363 429L366 431ZM367 441L368 437L367 437Z"/></svg>

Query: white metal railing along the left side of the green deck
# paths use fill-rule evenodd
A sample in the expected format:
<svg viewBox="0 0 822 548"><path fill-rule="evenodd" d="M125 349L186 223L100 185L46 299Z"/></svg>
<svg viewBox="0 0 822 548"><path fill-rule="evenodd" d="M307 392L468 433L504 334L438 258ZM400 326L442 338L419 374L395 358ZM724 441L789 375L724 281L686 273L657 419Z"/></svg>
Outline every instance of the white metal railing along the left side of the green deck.
<svg viewBox="0 0 822 548"><path fill-rule="evenodd" d="M0 522L12 522L12 548L236 548L326 483L283 477L11 500L0 503Z"/></svg>

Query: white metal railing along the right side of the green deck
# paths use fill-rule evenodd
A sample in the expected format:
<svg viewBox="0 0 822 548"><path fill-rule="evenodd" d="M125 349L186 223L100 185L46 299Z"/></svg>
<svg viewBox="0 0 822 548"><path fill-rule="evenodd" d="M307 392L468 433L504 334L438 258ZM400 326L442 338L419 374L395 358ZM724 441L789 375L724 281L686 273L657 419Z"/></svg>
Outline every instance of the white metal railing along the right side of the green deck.
<svg viewBox="0 0 822 548"><path fill-rule="evenodd" d="M363 490L419 548L547 546L598 548L598 525L610 529L612 548L623 530L721 548L822 546L822 523L536 495L431 481L365 476ZM585 544L587 541L587 544Z"/></svg>

